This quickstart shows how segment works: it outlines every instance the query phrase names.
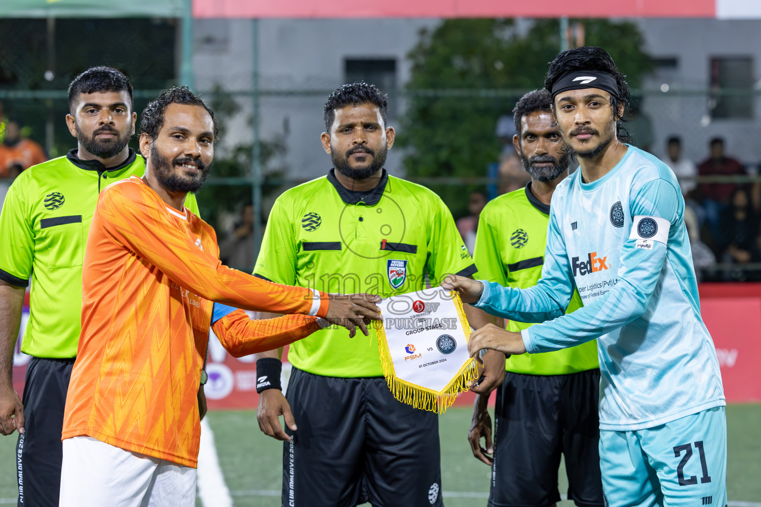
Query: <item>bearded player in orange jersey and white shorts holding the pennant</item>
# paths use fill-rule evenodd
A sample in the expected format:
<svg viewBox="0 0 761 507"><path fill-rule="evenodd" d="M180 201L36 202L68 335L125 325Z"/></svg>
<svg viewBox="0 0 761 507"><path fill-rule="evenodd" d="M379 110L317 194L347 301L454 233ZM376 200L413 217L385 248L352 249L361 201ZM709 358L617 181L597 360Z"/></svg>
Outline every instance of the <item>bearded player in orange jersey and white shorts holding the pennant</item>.
<svg viewBox="0 0 761 507"><path fill-rule="evenodd" d="M60 505L195 505L196 391L209 325L235 356L325 322L367 334L376 296L272 284L221 265L214 229L184 207L209 174L213 113L186 87L148 104L145 176L105 189L82 275L82 331L63 424ZM250 321L243 310L300 313Z"/></svg>

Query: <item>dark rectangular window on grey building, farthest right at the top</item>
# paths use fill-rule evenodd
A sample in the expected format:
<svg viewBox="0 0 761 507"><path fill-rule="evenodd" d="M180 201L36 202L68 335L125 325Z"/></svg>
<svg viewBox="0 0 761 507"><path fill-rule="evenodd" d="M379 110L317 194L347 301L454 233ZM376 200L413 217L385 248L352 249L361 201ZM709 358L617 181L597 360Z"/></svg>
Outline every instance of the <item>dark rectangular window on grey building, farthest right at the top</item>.
<svg viewBox="0 0 761 507"><path fill-rule="evenodd" d="M753 118L753 59L711 59L712 118Z"/></svg>

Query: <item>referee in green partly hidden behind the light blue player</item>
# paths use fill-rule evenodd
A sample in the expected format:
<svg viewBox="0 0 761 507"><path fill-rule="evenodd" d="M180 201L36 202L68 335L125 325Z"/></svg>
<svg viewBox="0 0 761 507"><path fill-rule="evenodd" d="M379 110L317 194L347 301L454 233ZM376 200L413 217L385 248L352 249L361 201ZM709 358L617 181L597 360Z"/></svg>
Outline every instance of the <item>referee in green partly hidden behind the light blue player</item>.
<svg viewBox="0 0 761 507"><path fill-rule="evenodd" d="M568 176L570 155L562 152L562 137L546 90L527 93L513 112L518 132L513 144L531 182L486 204L479 218L474 257L480 278L526 289L542 277L549 201ZM580 306L575 292L567 311ZM501 325L498 320L492 322ZM472 319L471 325L479 328L486 322ZM521 331L530 325L508 321L506 327ZM555 505L560 500L561 454L568 474L568 499L584 507L602 506L597 342L508 356L507 360L505 354L490 350L483 359L483 377L473 388L479 394L468 439L473 455L492 465L489 507ZM486 403L494 388L498 391L492 446ZM480 445L482 437L486 449Z"/></svg>

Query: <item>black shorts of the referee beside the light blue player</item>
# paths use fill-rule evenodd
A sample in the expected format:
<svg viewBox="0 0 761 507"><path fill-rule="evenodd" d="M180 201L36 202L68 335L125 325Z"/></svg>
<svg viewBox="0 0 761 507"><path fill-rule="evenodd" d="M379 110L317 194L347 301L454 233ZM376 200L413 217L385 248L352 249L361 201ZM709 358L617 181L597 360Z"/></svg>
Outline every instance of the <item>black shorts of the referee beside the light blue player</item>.
<svg viewBox="0 0 761 507"><path fill-rule="evenodd" d="M497 390L489 507L559 502L561 453L568 499L602 507L599 399L599 369L570 375L507 372Z"/></svg>

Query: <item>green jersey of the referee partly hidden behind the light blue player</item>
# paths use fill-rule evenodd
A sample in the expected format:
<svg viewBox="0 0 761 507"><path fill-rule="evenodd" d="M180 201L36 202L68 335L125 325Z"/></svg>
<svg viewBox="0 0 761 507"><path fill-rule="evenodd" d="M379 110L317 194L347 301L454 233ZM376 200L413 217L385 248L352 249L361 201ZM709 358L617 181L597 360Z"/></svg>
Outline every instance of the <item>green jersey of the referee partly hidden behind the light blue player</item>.
<svg viewBox="0 0 761 507"><path fill-rule="evenodd" d="M479 279L527 289L542 277L549 206L531 193L530 185L500 195L483 208L473 252ZM574 290L567 311L581 306ZM506 327L517 332L531 325L508 321ZM597 340L554 352L510 356L505 361L508 372L528 375L565 375L598 367Z"/></svg>

